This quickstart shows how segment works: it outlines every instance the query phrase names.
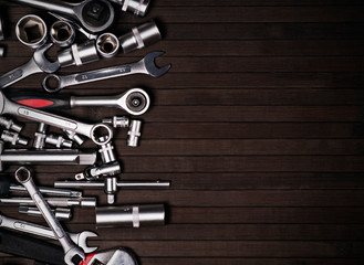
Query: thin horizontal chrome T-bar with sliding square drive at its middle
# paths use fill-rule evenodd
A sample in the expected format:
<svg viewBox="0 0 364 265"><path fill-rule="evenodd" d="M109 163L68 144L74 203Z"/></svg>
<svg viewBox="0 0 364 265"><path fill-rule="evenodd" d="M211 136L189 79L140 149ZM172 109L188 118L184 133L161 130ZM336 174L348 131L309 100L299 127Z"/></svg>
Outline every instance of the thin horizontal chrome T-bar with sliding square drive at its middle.
<svg viewBox="0 0 364 265"><path fill-rule="evenodd" d="M117 181L116 177L107 177L101 181L55 181L55 188L66 189L104 189L107 195L107 201L114 203L117 188L166 188L169 187L169 181Z"/></svg>

